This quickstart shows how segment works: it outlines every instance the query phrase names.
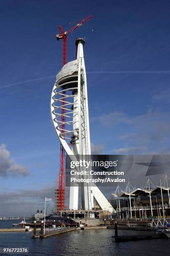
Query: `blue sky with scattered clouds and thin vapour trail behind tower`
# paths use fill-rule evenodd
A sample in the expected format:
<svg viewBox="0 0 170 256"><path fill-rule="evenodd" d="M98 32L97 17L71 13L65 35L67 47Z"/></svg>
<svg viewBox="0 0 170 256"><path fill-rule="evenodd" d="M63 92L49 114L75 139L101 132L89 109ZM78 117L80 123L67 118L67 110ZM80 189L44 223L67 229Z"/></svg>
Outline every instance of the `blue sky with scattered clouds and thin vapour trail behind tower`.
<svg viewBox="0 0 170 256"><path fill-rule="evenodd" d="M0 215L33 214L57 187L50 95L62 66L59 24L93 15L67 38L67 61L75 38L86 40L93 153L170 152L169 10L168 0L1 1Z"/></svg>

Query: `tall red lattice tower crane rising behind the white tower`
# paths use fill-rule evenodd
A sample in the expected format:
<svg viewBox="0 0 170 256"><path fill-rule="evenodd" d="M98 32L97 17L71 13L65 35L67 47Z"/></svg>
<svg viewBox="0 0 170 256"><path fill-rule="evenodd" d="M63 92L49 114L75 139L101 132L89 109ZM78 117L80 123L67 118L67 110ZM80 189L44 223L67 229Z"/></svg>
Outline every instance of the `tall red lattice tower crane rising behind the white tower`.
<svg viewBox="0 0 170 256"><path fill-rule="evenodd" d="M76 28L82 26L87 20L92 18L92 15L89 17L81 20L77 25L70 28L68 31L64 32L62 27L59 26L59 29L61 31L61 35L57 34L57 40L63 39L63 45L62 45L62 66L64 66L67 63L67 35L70 34L72 31L74 31ZM63 92L62 95L62 105L63 108L61 110L61 132L65 130L65 92ZM59 171L59 182L58 182L58 212L65 209L65 150L60 144L60 171Z"/></svg>

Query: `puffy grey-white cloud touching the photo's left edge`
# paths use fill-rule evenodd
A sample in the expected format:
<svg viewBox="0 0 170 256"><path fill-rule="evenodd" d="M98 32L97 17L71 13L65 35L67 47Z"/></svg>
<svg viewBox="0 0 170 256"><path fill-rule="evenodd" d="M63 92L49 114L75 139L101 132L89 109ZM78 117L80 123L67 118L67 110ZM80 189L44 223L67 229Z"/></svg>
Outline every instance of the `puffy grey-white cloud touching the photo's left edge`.
<svg viewBox="0 0 170 256"><path fill-rule="evenodd" d="M0 145L0 177L13 176L27 176L30 173L21 164L17 164L10 158L10 152L7 150L5 144Z"/></svg>

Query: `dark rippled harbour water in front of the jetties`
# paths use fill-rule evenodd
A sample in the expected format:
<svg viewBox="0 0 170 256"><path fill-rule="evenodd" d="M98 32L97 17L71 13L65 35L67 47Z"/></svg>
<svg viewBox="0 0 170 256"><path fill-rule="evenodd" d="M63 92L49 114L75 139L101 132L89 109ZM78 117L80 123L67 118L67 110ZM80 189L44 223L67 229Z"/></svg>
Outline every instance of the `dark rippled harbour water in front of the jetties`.
<svg viewBox="0 0 170 256"><path fill-rule="evenodd" d="M19 220L18 222L20 222ZM11 228L15 220L0 220L0 228ZM119 235L146 231L118 230ZM170 239L115 243L113 229L76 230L46 239L35 238L31 232L0 232L0 247L29 248L29 255L39 256L157 256L170 255ZM7 254L1 254L7 255ZM15 254L19 255L19 254ZM21 255L21 254L20 254ZM22 254L28 255L28 254Z"/></svg>

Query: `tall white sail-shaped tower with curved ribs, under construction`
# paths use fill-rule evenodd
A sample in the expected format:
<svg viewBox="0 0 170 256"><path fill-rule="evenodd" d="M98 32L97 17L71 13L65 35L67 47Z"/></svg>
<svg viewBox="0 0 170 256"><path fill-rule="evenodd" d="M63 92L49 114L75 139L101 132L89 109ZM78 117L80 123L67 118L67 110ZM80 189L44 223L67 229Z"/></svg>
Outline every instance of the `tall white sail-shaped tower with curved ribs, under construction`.
<svg viewBox="0 0 170 256"><path fill-rule="evenodd" d="M57 136L71 161L76 161L76 155L80 155L80 157L83 155L83 159L88 161L91 154L87 82L83 55L84 44L84 39L77 38L77 59L65 64L57 74L51 96L52 122ZM62 108L65 108L65 113L61 114ZM65 116L64 131L61 129L62 115ZM80 171L88 171L85 167L80 168ZM84 178L88 177L84 176ZM87 183L86 185L82 183L82 209L92 210L94 197L102 210L113 211L112 205L94 183ZM76 185L70 186L69 208L70 210L78 209L78 186Z"/></svg>

